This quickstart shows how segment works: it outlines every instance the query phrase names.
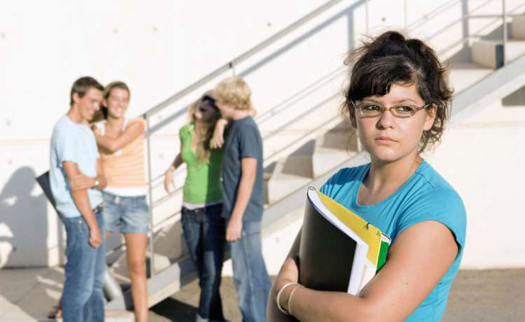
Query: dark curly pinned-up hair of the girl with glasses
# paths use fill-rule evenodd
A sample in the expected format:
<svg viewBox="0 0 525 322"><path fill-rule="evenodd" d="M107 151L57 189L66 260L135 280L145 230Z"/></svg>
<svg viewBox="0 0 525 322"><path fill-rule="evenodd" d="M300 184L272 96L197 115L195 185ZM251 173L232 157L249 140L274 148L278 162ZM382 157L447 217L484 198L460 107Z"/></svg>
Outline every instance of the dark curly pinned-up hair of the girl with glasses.
<svg viewBox="0 0 525 322"><path fill-rule="evenodd" d="M441 65L432 48L419 39L407 39L397 31L387 31L351 51L345 65L351 62L355 64L341 111L354 128L352 101L383 96L390 91L392 84L416 84L421 99L436 106L436 119L432 128L421 136L419 152L427 145L439 142L453 91L446 80L448 69Z"/></svg>

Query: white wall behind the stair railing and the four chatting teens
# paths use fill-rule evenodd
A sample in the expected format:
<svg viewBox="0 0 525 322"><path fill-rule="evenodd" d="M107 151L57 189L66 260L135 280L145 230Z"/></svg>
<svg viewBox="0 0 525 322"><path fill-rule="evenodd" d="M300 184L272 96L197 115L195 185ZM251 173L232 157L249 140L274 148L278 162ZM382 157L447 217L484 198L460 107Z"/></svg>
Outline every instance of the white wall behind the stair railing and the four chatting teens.
<svg viewBox="0 0 525 322"><path fill-rule="evenodd" d="M368 29L378 33L387 26L403 28L405 21L418 21L447 1L407 0L406 11L404 2L370 0ZM507 0L509 7L514 2ZM115 79L126 81L132 91L128 113L135 116L324 3L1 1L0 267L57 265L63 260L60 224L33 177L48 168L51 129L68 109L74 79L89 74L103 84ZM475 6L480 1L468 4ZM412 33L430 35L436 23L445 26L460 16L464 7L452 6L434 23ZM365 33L365 17L363 0L342 1L239 65L236 72L244 74L253 88L259 113L341 67L348 47ZM431 43L446 45L443 38L453 43L456 31L449 30ZM214 87L217 80L155 116L153 125L169 118L204 89ZM261 126L263 134L275 130L285 119L298 118L329 93L339 91L343 82L344 77L336 77L304 96L303 101L287 104L285 113ZM322 113L317 111L302 123L284 128L273 141L268 140L267 155L283 150L277 143L292 147L288 142L336 114L336 106L326 107ZM175 155L177 130L184 120L184 116L179 117L155 133L154 174L161 173Z"/></svg>

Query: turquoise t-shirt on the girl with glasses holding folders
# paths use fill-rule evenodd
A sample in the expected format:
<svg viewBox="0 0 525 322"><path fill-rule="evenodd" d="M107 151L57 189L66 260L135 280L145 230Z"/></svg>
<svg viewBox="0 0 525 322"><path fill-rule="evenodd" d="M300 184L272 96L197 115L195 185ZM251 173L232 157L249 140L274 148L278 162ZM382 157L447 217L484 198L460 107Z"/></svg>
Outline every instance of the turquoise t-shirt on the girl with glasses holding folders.
<svg viewBox="0 0 525 322"><path fill-rule="evenodd" d="M440 321L465 245L466 213L463 201L451 185L423 161L392 195L377 204L362 206L358 204L357 197L368 170L370 163L341 169L321 187L321 192L380 228L392 238L392 243L395 243L399 233L421 221L438 221L452 231L458 243L458 255L429 296L405 320Z"/></svg>

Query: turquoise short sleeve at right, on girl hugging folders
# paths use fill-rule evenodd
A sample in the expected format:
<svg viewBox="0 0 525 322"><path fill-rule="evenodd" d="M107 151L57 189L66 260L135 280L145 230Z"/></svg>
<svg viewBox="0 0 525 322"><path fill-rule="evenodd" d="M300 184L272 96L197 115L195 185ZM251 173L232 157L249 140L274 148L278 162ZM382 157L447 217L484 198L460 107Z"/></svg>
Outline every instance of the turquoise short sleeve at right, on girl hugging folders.
<svg viewBox="0 0 525 322"><path fill-rule="evenodd" d="M438 187L416 198L399 216L396 235L423 221L438 221L450 229L460 254L465 245L466 211L457 192L448 187Z"/></svg>

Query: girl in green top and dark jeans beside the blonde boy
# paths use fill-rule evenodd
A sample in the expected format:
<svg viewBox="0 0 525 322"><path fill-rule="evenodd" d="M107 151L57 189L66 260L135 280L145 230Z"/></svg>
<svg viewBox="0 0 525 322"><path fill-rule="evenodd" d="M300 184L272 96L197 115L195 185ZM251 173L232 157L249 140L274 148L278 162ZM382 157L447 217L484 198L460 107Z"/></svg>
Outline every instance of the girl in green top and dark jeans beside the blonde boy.
<svg viewBox="0 0 525 322"><path fill-rule="evenodd" d="M182 231L188 252L199 275L201 296L197 321L224 321L221 270L225 223L221 217L221 170L223 130L226 121L207 91L189 109L189 123L179 131L180 152L165 172L165 189L174 189L172 172L186 163L187 177L182 188Z"/></svg>

